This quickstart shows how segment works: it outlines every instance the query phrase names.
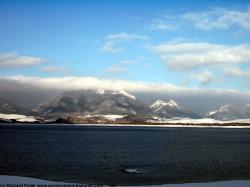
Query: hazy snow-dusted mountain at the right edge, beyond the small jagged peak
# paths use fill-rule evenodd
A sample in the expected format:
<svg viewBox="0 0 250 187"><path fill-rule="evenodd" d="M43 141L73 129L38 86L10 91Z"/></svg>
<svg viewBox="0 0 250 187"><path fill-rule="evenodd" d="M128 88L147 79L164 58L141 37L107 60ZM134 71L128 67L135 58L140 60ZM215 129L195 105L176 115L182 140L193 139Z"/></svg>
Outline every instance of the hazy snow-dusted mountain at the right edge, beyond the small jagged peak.
<svg viewBox="0 0 250 187"><path fill-rule="evenodd" d="M220 120L248 119L250 118L250 104L224 105L209 112L207 116Z"/></svg>

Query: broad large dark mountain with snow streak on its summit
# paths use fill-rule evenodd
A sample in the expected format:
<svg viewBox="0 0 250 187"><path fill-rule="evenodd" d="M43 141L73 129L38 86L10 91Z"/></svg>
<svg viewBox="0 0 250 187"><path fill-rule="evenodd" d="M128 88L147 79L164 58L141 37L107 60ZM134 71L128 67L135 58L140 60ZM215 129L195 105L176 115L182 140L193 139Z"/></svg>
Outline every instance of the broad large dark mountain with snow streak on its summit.
<svg viewBox="0 0 250 187"><path fill-rule="evenodd" d="M124 90L82 90L65 92L33 109L41 116L86 114L144 115L151 109Z"/></svg>

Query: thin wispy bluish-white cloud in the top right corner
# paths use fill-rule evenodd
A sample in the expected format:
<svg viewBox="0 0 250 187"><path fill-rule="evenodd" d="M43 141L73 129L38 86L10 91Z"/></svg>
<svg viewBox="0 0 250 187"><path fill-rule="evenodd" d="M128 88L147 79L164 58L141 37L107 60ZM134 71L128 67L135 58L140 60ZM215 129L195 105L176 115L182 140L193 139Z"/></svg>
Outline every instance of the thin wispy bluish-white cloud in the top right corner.
<svg viewBox="0 0 250 187"><path fill-rule="evenodd" d="M212 8L207 11L185 13L182 18L192 21L196 28L202 30L228 29L232 26L250 29L250 8Z"/></svg>

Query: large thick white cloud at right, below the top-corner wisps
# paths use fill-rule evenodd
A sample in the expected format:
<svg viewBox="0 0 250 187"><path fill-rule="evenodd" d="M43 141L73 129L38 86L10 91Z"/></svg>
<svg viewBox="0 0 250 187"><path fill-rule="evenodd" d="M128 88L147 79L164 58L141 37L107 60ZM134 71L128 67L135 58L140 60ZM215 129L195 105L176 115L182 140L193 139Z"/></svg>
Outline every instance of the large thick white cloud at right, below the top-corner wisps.
<svg viewBox="0 0 250 187"><path fill-rule="evenodd" d="M150 49L175 70L190 70L201 66L250 63L250 46L221 45L204 42L169 42Z"/></svg>

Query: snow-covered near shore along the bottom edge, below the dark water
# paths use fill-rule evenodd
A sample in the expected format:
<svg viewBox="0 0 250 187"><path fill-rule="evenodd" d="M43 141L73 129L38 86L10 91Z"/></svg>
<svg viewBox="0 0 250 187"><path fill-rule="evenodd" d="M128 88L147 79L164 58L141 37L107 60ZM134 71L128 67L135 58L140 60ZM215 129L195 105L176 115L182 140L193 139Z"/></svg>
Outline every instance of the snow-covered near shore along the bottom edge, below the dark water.
<svg viewBox="0 0 250 187"><path fill-rule="evenodd" d="M6 184L73 184L64 182L53 182L29 177L18 177L0 175L0 185ZM150 185L150 187L246 187L250 186L250 180L234 180L222 182L208 182L208 183L186 183L186 184L164 184L164 185Z"/></svg>

